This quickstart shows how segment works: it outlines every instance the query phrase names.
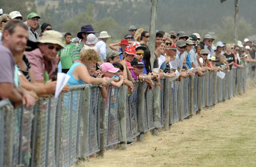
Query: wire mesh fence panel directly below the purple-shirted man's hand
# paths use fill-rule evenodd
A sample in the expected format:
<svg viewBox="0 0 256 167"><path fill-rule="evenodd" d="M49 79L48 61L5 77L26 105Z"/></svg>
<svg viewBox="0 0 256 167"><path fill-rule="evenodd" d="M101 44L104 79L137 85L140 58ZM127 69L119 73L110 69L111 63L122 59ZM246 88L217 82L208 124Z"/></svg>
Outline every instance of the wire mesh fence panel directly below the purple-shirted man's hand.
<svg viewBox="0 0 256 167"><path fill-rule="evenodd" d="M33 107L25 109L23 112L23 132L22 132L22 160L24 166L29 166L30 161L30 137L32 129Z"/></svg>

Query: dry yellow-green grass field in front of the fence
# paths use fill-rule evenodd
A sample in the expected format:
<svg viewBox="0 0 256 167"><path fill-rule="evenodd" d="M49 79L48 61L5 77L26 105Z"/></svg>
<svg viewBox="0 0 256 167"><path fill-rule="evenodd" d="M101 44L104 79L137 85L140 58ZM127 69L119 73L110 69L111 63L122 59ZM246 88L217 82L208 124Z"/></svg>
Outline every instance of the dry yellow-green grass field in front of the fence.
<svg viewBox="0 0 256 167"><path fill-rule="evenodd" d="M256 87L76 166L256 166Z"/></svg>

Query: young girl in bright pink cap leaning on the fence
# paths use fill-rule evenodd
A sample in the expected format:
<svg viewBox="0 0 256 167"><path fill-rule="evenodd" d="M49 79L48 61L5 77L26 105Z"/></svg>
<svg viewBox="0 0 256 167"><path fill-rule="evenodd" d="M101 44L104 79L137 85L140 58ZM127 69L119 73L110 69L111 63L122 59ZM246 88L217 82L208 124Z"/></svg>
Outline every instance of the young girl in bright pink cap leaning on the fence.
<svg viewBox="0 0 256 167"><path fill-rule="evenodd" d="M112 78L115 75L115 73L119 70L118 68L114 67L111 63L103 63L100 67L103 72L103 77L106 77L109 79ZM110 82L110 84L116 88L119 88L124 81L122 75L119 75L118 77L119 77L118 79L116 78L115 80Z"/></svg>

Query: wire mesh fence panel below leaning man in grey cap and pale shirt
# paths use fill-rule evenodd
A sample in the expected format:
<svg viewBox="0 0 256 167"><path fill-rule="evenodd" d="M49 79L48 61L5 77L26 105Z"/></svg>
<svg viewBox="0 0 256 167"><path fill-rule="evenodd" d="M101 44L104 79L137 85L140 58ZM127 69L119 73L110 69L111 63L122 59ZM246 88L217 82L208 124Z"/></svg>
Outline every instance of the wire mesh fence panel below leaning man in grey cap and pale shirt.
<svg viewBox="0 0 256 167"><path fill-rule="evenodd" d="M190 115L189 112L189 78L184 79L183 83L183 115L182 119L187 118Z"/></svg>

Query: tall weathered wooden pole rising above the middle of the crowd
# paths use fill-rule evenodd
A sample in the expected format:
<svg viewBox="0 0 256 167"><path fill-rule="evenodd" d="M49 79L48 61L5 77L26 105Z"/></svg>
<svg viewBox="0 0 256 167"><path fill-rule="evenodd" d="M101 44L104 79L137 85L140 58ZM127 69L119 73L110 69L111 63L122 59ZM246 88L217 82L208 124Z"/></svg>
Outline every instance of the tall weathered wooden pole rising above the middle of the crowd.
<svg viewBox="0 0 256 167"><path fill-rule="evenodd" d="M150 15L150 27L149 27L149 34L150 34L150 40L148 42L148 47L150 50L150 63L151 63L151 69L153 69L154 64L154 52L155 52L155 34L157 29L157 6L158 6L158 0L152 0L151 1L151 15Z"/></svg>

